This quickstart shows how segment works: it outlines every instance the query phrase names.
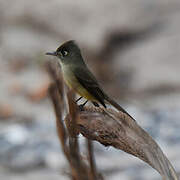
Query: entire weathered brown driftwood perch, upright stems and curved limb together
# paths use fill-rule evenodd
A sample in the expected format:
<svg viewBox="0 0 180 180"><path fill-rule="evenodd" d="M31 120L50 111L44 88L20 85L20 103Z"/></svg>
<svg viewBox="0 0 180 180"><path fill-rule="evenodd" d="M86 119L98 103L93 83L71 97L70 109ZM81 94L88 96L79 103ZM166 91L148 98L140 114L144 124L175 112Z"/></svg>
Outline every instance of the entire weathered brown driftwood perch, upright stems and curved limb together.
<svg viewBox="0 0 180 180"><path fill-rule="evenodd" d="M112 109L85 107L80 110L73 101L72 92L68 93L69 113L62 120L63 85L61 78L48 67L54 84L49 89L56 114L56 126L63 152L71 167L73 180L103 179L97 173L90 140L96 140L105 146L113 146L132 154L156 169L164 180L178 180L177 174L157 143L134 119L123 112ZM77 135L87 138L88 164L79 152ZM69 141L69 145L67 144Z"/></svg>

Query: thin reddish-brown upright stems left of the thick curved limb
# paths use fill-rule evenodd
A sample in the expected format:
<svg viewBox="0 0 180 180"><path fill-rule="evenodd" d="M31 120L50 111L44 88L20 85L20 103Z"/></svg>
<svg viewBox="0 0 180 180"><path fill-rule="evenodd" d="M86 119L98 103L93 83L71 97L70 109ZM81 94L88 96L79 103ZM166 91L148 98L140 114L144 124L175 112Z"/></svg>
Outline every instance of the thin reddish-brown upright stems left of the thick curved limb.
<svg viewBox="0 0 180 180"><path fill-rule="evenodd" d="M69 105L69 114L65 118L65 125L62 118L62 112L64 111L65 103L63 102L63 85L61 78L58 78L55 73L56 67L52 64L47 64L47 70L50 74L50 77L54 81L49 87L49 95L54 106L56 114L56 128L58 137L61 143L62 150L66 159L69 162L71 168L71 176L73 180L103 180L100 174L97 174L95 169L95 162L93 156L93 148L89 150L91 153L89 155L89 166L84 162L81 154L79 152L79 142L78 142L78 131L77 131L77 115L78 107L73 101L73 93L69 92L68 105ZM68 142L69 141L69 145ZM90 141L90 140L88 140ZM93 168L93 170L92 170ZM96 178L97 177L97 178Z"/></svg>

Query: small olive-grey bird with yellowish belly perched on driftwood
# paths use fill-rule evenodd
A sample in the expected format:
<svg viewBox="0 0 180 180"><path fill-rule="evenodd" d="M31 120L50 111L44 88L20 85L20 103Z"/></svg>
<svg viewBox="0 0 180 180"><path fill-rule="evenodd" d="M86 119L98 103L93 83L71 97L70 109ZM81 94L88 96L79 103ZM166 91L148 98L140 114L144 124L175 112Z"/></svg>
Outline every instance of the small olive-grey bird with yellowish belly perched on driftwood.
<svg viewBox="0 0 180 180"><path fill-rule="evenodd" d="M56 51L47 52L46 55L58 57L65 83L80 95L80 98L77 99L76 102L78 102L82 97L87 99L81 105L81 108L83 108L88 101L91 101L95 106L99 106L100 103L104 108L106 108L105 103L108 102L119 111L130 116L100 87L96 78L85 64L80 48L74 40L65 42L58 47Z"/></svg>

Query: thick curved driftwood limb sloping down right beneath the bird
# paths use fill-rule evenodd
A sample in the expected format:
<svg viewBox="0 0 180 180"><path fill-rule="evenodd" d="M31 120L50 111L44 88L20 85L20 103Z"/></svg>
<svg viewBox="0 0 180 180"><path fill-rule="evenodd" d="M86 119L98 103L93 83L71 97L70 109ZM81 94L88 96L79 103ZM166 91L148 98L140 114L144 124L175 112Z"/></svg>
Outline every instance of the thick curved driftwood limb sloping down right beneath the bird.
<svg viewBox="0 0 180 180"><path fill-rule="evenodd" d="M78 114L78 129L86 138L132 154L156 169L165 180L178 180L157 143L125 113L86 107Z"/></svg>

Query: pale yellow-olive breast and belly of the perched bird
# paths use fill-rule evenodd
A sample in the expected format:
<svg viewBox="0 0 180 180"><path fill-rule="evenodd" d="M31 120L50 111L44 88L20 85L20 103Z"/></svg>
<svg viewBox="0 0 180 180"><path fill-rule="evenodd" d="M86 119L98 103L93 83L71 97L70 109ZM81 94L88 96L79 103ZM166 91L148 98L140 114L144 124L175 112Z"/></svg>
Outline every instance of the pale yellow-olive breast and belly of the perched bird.
<svg viewBox="0 0 180 180"><path fill-rule="evenodd" d="M79 83L73 72L68 67L64 66L62 71L64 81L69 88L73 89L80 96L86 98L87 100L96 101L96 99Z"/></svg>

